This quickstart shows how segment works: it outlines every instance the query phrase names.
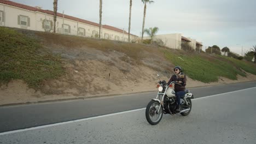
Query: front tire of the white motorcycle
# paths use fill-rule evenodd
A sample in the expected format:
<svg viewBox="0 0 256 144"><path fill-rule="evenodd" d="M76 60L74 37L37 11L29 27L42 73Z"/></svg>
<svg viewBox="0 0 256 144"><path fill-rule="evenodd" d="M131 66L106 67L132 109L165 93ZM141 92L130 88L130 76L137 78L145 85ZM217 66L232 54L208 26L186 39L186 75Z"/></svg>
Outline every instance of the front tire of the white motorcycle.
<svg viewBox="0 0 256 144"><path fill-rule="evenodd" d="M148 121L149 124L155 125L155 124L158 124L161 121L162 115L163 115L163 109L162 109L162 106L161 106L159 114L156 114L155 112L157 111L158 106L161 106L161 105L158 101L155 101L155 100L151 100L148 103L147 108L146 108L146 118L147 118L147 121ZM159 115L159 116L157 116L156 120L152 119L152 117L154 115Z"/></svg>

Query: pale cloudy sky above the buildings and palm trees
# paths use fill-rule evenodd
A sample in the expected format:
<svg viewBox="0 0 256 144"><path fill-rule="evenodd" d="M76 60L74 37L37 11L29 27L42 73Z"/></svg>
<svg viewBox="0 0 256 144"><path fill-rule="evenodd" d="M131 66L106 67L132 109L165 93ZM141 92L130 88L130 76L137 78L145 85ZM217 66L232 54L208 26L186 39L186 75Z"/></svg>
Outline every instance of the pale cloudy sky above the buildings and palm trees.
<svg viewBox="0 0 256 144"><path fill-rule="evenodd" d="M11 0L53 10L53 0ZM102 0L102 24L128 32L130 0ZM99 22L98 0L59 0L59 13ZM182 33L208 46L227 46L239 55L256 45L255 0L154 0L147 5L145 28L158 27L158 34ZM131 33L142 31L144 5L132 0ZM145 35L146 36L146 35Z"/></svg>

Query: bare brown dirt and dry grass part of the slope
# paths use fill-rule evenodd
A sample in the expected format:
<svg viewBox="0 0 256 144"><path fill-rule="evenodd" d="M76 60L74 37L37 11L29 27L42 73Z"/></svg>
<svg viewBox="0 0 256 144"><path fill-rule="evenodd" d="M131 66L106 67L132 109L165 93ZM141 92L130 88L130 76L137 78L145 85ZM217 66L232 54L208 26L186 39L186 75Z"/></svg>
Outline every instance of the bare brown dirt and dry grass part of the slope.
<svg viewBox="0 0 256 144"><path fill-rule="evenodd" d="M44 49L60 56L65 75L44 80L37 91L22 80L0 85L0 105L55 99L86 98L96 95L155 91L156 74L168 80L173 64L159 51L162 47L126 44L118 41L84 39L69 35L19 30L40 40ZM173 50L175 51L175 50ZM256 76L231 81L202 83L189 79L188 87L256 80Z"/></svg>

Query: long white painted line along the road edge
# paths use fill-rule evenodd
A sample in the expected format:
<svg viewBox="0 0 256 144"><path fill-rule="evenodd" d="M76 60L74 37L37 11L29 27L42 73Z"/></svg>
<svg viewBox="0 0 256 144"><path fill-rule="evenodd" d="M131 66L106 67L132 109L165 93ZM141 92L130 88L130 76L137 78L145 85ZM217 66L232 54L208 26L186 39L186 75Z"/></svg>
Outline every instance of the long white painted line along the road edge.
<svg viewBox="0 0 256 144"><path fill-rule="evenodd" d="M229 93L235 93L235 92L240 92L240 91L246 91L246 90L248 90L248 89L253 89L253 88L256 88L256 87L246 88L246 89L241 89L241 90L238 90L238 91L226 92L226 93L221 93L221 94L209 95L209 96L206 96L206 97L196 98L196 99L194 99L194 100L197 100L197 99L204 99L204 98L210 98L210 97L215 97L215 96L218 96L218 95L229 94ZM19 130L7 131L7 132L4 132L4 133L0 133L0 136L1 136L1 135L7 135L7 134L13 134L13 133L19 133L19 132L22 132L22 131L28 131L28 130L34 130L34 129L41 129L41 128L47 128L47 127L53 127L53 126L56 126L56 125L62 125L62 124L68 124L68 123L75 123L75 122L87 121L87 120L89 120L89 119L95 119L95 118L101 118L101 117L108 117L108 116L120 115L120 114L122 114L122 113L128 113L128 112L134 112L134 111L141 111L141 110L146 110L146 107L144 107L144 108L142 108L142 109L136 109L136 110L130 110L130 111L123 111L123 112L117 112L117 113L111 113L111 114L108 114L108 115L102 115L102 116L96 116L96 117L89 117L89 118L77 119L77 120L74 120L74 121L61 122L61 123L48 124L48 125L42 125L42 126L39 126L39 127L33 127L33 128L27 128L27 129L19 129Z"/></svg>

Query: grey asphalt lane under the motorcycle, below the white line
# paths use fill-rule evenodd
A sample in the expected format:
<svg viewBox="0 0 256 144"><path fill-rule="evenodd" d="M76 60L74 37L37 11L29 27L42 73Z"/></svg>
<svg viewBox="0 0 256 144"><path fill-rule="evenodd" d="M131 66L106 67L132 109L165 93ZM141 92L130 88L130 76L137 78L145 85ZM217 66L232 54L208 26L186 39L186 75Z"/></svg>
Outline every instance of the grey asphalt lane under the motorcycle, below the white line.
<svg viewBox="0 0 256 144"><path fill-rule="evenodd" d="M150 125L145 109L1 135L0 143L255 143L256 88L192 101L189 116Z"/></svg>

